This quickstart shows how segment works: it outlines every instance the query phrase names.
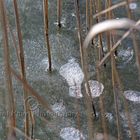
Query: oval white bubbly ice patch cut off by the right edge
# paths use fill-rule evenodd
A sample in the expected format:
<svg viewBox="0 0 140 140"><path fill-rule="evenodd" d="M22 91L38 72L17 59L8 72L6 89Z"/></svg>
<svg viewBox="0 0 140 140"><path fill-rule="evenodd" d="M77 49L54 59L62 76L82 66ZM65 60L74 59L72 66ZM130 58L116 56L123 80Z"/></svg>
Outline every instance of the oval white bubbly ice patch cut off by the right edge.
<svg viewBox="0 0 140 140"><path fill-rule="evenodd" d="M127 100L140 103L140 92L133 91L133 90L126 90L124 91L124 96Z"/></svg>

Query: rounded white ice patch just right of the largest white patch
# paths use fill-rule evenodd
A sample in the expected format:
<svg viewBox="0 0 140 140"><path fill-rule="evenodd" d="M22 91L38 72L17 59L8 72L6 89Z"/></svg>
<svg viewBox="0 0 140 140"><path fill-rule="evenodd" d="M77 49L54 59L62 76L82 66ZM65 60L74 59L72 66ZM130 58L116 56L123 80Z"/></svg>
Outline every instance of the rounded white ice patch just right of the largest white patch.
<svg viewBox="0 0 140 140"><path fill-rule="evenodd" d="M99 97L104 90L103 84L95 80L90 80L88 82L89 82L92 98Z"/></svg>

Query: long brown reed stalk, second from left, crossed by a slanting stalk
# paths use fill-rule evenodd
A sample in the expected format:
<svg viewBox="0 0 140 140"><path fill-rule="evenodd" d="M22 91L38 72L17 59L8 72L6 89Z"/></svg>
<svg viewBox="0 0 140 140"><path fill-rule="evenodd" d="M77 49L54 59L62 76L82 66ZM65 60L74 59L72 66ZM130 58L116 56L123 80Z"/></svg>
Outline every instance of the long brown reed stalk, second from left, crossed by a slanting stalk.
<svg viewBox="0 0 140 140"><path fill-rule="evenodd" d="M16 22L17 37L18 37L18 53L19 53L19 58L20 58L20 73L21 73L21 78L24 81L26 81L24 49L23 49L22 33L21 33L21 27L20 27L17 0L13 0L13 5L14 5L14 12L15 12L15 22ZM27 89L24 88L23 92L24 92L24 100L26 100L27 97L28 97ZM25 102L24 102L24 110L25 110L25 134L28 137L30 137L30 116L28 114L28 112L29 112L28 103L25 104Z"/></svg>

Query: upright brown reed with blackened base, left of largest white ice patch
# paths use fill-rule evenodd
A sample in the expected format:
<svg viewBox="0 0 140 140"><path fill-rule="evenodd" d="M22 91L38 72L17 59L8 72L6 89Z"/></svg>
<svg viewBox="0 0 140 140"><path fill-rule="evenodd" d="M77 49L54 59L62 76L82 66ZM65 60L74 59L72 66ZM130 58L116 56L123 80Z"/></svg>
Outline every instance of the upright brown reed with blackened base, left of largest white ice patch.
<svg viewBox="0 0 140 140"><path fill-rule="evenodd" d="M48 0L43 0L44 7L44 30L45 30L45 38L48 49L48 61L49 61L49 71L52 71L52 57L51 57L51 47L49 41L49 10L48 10Z"/></svg>

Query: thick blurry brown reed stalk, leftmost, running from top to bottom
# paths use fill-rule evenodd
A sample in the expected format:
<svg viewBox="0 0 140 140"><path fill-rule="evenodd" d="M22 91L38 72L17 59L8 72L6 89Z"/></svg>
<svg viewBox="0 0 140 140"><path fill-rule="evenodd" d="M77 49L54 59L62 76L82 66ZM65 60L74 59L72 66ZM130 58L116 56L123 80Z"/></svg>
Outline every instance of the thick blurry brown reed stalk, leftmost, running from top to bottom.
<svg viewBox="0 0 140 140"><path fill-rule="evenodd" d="M9 52L9 42L8 42L8 29L7 29L7 20L6 20L6 10L4 1L0 0L0 10L1 10L1 22L3 29L3 53L4 53L4 65L5 65L5 83L7 88L7 111L10 113L10 116L7 118L8 123L8 136L7 139L13 140L16 139L16 132L13 127L16 127L16 116L15 116L15 101L14 101L14 92L12 85L12 75L10 71L10 52Z"/></svg>

